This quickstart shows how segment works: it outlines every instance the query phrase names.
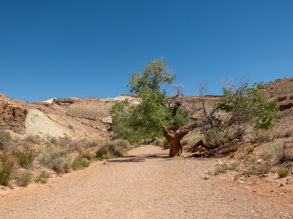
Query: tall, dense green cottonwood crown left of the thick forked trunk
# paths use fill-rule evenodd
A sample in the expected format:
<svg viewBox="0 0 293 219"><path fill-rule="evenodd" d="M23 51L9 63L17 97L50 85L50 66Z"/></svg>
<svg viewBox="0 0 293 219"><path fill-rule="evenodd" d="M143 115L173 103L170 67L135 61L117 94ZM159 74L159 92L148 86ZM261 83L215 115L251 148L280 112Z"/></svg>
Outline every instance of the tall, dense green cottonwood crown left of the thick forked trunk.
<svg viewBox="0 0 293 219"><path fill-rule="evenodd" d="M134 106L128 99L116 103L110 112L113 131L117 138L132 140L162 136L162 127L177 130L188 122L188 110L183 109L178 99L182 85L174 85L177 94L171 101L166 98L166 90L160 91L161 84L173 84L176 75L166 65L163 57L152 60L143 72L135 72L129 77L130 92L139 94L141 104ZM182 94L181 94L182 96Z"/></svg>

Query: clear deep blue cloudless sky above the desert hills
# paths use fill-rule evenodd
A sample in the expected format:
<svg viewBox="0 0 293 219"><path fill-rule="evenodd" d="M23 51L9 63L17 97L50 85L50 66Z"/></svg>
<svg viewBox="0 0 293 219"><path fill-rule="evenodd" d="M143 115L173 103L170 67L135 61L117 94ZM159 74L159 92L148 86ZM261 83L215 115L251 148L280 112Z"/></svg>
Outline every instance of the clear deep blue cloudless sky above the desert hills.
<svg viewBox="0 0 293 219"><path fill-rule="evenodd" d="M0 1L0 92L114 98L165 57L175 82L293 76L293 1Z"/></svg>

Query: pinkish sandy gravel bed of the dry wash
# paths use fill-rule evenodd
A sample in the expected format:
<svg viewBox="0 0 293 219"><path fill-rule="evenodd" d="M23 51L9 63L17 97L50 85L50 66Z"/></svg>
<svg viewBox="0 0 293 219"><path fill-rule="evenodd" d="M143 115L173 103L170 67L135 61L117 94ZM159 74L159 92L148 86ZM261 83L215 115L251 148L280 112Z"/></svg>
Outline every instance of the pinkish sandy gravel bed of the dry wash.
<svg viewBox="0 0 293 219"><path fill-rule="evenodd" d="M217 158L168 158L168 150L142 145L47 184L2 187L0 218L293 217L292 184L280 187L285 178L270 173L254 176L256 184L247 177L238 185L231 171L204 180L217 163Z"/></svg>

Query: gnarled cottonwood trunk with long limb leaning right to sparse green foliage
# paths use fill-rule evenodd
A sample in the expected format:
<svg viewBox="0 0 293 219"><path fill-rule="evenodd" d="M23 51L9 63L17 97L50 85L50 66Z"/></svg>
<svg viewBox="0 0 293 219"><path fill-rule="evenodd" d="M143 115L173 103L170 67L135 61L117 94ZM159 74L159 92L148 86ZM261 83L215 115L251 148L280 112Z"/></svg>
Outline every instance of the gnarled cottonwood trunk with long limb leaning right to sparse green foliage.
<svg viewBox="0 0 293 219"><path fill-rule="evenodd" d="M199 82L199 81L198 81ZM175 133L170 133L166 126L163 126L164 137L170 144L169 157L181 156L182 146L180 140L195 128L200 128L202 133L207 130L223 131L232 124L232 120L239 123L251 123L253 128L263 128L268 130L275 124L272 120L277 117L278 107L275 101L269 102L265 100L262 86L263 82L248 85L249 79L242 79L233 83L232 79L223 79L223 94L218 102L214 102L211 109L207 109L207 102L203 98L204 91L207 90L207 82L199 83L200 91L200 107L195 108L192 112L200 112L193 121L179 128ZM229 122L223 126L222 121L217 119L214 114L219 111L228 112L230 114ZM226 137L226 135L224 136ZM222 140L225 142L225 140Z"/></svg>

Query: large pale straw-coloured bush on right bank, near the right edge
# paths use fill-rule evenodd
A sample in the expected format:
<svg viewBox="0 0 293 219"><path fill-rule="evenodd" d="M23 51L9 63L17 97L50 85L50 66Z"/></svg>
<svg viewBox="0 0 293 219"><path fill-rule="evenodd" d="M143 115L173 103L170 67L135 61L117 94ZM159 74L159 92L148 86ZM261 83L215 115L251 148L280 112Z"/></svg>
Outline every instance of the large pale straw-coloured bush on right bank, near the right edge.
<svg viewBox="0 0 293 219"><path fill-rule="evenodd" d="M277 165L283 159L283 149L285 145L284 141L266 144L263 147L263 153L260 154L260 158L269 161L272 165Z"/></svg>

